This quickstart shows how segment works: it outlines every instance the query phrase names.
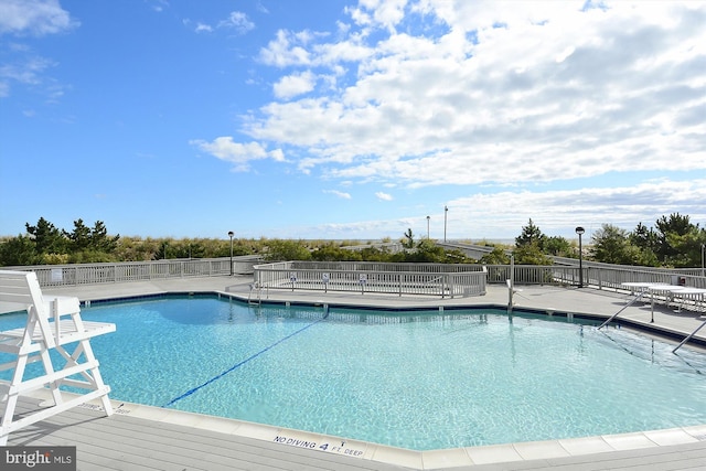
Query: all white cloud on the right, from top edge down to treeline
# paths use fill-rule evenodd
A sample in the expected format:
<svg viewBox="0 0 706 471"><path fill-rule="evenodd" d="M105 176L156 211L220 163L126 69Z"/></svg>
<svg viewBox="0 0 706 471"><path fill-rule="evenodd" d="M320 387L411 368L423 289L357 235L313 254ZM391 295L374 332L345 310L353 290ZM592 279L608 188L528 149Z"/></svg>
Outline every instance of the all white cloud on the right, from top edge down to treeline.
<svg viewBox="0 0 706 471"><path fill-rule="evenodd" d="M279 31L258 56L279 73L275 99L239 131L339 184L410 201L452 189L436 210L309 234L426 234L431 215L434 236L445 204L449 234L472 239L515 237L530 217L567 237L676 212L706 220L706 3L383 6L359 2L332 34ZM660 172L673 180L650 180Z"/></svg>

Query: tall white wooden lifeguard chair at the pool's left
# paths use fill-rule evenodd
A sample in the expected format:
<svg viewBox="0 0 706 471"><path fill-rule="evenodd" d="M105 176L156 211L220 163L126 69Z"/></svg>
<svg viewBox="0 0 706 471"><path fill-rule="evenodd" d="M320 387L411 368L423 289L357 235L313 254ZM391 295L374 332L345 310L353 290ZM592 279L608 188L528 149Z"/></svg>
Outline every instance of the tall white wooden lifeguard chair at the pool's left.
<svg viewBox="0 0 706 471"><path fill-rule="evenodd" d="M11 432L88 400L100 398L106 415L111 415L110 387L103 382L90 339L115 332L115 324L84 322L78 298L42 296L33 271L0 270L0 313L15 311L26 311L25 327L0 332L0 352L13 355L0 364L0 371L12 371L9 383L0 381L0 446L7 445ZM63 363L60 367L50 356L52 350L58 353L54 363ZM43 372L25 378L26 365L34 362L42 363ZM85 393L68 396L61 386ZM46 403L53 405L15 420L20 395L42 388L50 389L53 400Z"/></svg>

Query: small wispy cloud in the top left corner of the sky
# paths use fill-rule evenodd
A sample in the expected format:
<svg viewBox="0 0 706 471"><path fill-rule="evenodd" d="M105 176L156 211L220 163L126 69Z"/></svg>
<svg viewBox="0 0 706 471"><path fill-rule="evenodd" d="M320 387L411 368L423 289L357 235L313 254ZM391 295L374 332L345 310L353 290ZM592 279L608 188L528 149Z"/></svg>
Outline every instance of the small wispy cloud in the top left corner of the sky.
<svg viewBox="0 0 706 471"><path fill-rule="evenodd" d="M78 26L58 0L2 0L0 2L0 34L61 33Z"/></svg>

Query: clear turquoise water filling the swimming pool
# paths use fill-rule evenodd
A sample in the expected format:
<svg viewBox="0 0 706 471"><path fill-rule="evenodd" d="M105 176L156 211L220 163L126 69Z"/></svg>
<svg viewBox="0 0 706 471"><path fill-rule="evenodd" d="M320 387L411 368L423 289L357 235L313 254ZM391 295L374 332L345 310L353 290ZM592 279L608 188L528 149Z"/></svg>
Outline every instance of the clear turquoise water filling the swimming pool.
<svg viewBox="0 0 706 471"><path fill-rule="evenodd" d="M83 317L117 324L93 341L117 400L415 450L706 424L706 355L565 318L215 297Z"/></svg>

